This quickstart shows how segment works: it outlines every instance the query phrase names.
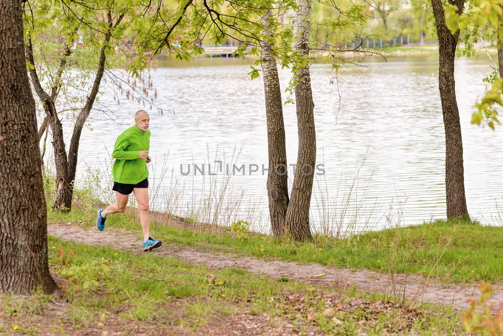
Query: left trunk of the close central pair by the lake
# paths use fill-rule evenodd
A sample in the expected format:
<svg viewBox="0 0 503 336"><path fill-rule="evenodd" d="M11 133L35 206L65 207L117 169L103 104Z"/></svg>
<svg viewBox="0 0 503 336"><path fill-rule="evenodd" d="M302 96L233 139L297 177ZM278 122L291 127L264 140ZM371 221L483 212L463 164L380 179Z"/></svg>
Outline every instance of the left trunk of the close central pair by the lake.
<svg viewBox="0 0 503 336"><path fill-rule="evenodd" d="M283 104L278 77L276 58L273 56L274 28L271 27L272 10L267 10L262 22L266 29L264 35L271 41L262 42L261 62L264 76L266 98L267 143L269 154L269 172L267 193L271 230L275 237L285 233L285 217L288 208L288 169L286 160L285 124L283 122Z"/></svg>

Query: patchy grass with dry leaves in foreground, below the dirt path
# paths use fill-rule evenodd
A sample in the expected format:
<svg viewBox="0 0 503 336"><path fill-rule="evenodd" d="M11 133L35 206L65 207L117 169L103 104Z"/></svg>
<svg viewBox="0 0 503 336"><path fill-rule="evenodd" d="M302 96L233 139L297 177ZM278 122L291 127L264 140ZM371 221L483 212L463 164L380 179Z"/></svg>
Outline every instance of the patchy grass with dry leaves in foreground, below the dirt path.
<svg viewBox="0 0 503 336"><path fill-rule="evenodd" d="M174 258L50 236L48 243L50 268L59 279L66 308L53 313L48 305L54 299L41 292L22 298L3 295L0 334L67 334L88 327L126 334L198 333L206 327L219 330L224 321L234 321L237 327L243 319L266 320L267 328L290 332L317 330L316 334L461 331L458 315L449 308L409 309L384 295L367 296L354 288L339 292L234 268L209 270Z"/></svg>

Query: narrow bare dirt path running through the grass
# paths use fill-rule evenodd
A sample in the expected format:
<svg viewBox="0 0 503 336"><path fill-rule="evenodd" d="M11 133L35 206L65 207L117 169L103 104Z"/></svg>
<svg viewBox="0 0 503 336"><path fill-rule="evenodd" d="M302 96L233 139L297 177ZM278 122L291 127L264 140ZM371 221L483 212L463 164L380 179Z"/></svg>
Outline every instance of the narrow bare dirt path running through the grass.
<svg viewBox="0 0 503 336"><path fill-rule="evenodd" d="M141 239L137 235L126 231L112 231L108 228L104 232L96 228L84 230L74 224L51 224L47 227L48 234L64 240L73 240L86 244L98 244L117 247L119 249L139 250ZM162 245L154 252L160 256L172 256L191 264L206 264L212 268L235 267L272 278L287 277L292 280L311 281L318 284L338 286L345 288L355 285L357 289L365 292L384 292L399 294L405 290L405 296L415 302L431 302L439 305L453 305L457 309L467 306L470 297L479 298L480 291L476 284L440 285L434 282L425 284L425 278L409 275L395 275L393 279L387 274L369 270L348 270L325 267L319 264L302 264L283 261L264 261L258 258L238 257L235 255L219 255L200 248ZM320 276L324 274L324 276ZM493 286L489 303L494 308L503 302L503 288Z"/></svg>

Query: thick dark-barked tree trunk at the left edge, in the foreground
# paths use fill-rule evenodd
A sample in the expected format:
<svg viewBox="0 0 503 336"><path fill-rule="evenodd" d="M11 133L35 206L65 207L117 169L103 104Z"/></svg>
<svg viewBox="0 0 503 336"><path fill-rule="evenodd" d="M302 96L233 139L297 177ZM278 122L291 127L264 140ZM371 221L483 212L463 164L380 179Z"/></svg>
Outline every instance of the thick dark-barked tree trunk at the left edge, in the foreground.
<svg viewBox="0 0 503 336"><path fill-rule="evenodd" d="M22 2L0 6L0 290L57 286L47 262L47 213L35 102L26 74Z"/></svg>

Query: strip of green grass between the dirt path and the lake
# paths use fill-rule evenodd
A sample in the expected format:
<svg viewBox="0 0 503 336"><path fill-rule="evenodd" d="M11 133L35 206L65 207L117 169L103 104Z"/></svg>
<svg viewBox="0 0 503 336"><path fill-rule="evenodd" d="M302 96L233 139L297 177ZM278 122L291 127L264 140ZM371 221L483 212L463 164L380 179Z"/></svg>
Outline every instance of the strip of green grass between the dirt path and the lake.
<svg viewBox="0 0 503 336"><path fill-rule="evenodd" d="M49 222L81 221L95 225L95 210L72 210L70 214L49 212ZM107 226L140 232L137 218L115 214ZM463 283L503 280L503 227L483 226L468 219L437 220L344 239L316 235L312 242L278 240L266 235L238 239L229 231L197 232L152 223L153 236L164 243L196 246L220 253L279 259L298 263L319 263L344 268L365 268L380 272L412 273Z"/></svg>

